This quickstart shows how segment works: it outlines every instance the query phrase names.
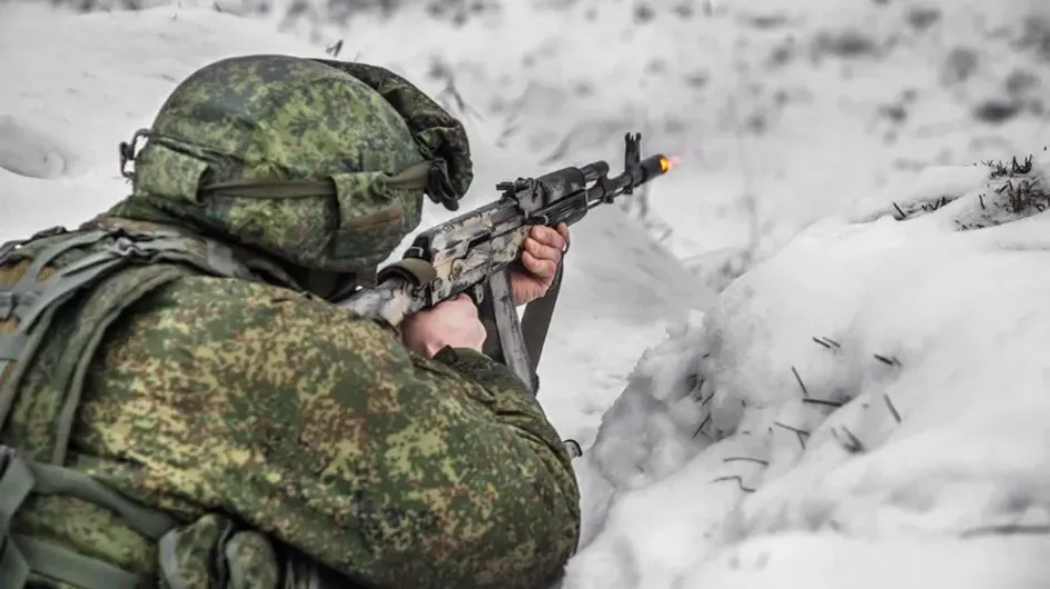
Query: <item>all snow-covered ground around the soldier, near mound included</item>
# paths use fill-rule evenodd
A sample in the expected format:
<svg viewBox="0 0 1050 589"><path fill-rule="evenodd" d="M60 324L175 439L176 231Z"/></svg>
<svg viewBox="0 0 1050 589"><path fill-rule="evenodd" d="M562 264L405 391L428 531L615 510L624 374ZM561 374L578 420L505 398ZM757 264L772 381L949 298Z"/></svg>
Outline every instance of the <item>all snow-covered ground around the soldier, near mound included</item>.
<svg viewBox="0 0 1050 589"><path fill-rule="evenodd" d="M641 130L682 166L646 227L574 230L541 363L588 448L563 589L1050 583L1044 1L140 3L0 1L0 241L121 198L117 143L232 54L418 81L472 132L466 206Z"/></svg>

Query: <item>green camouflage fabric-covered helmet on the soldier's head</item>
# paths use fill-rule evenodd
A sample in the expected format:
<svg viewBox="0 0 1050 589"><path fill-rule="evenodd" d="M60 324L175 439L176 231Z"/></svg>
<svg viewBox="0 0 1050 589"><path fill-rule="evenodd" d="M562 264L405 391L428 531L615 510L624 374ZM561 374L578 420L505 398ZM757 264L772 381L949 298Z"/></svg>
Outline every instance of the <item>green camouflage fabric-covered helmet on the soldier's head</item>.
<svg viewBox="0 0 1050 589"><path fill-rule="evenodd" d="M459 121L383 68L285 56L206 66L161 107L128 203L307 270L365 281L473 178ZM133 207L132 207L133 208Z"/></svg>

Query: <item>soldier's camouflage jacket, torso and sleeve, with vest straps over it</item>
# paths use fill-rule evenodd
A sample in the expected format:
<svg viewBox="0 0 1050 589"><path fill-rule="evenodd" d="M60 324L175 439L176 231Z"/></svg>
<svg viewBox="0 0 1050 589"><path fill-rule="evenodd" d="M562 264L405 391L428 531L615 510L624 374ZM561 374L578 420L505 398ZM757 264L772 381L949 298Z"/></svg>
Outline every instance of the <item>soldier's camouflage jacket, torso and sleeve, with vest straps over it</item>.
<svg viewBox="0 0 1050 589"><path fill-rule="evenodd" d="M508 370L164 226L0 254L0 439L4 589L542 589L578 536Z"/></svg>

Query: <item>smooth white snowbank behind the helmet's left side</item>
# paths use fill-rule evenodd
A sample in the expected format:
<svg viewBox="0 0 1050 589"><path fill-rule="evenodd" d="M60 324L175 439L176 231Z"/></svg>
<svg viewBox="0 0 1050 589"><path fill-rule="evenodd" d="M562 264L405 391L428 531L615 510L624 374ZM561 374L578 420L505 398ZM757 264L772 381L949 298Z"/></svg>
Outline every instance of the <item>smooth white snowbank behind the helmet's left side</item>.
<svg viewBox="0 0 1050 589"><path fill-rule="evenodd" d="M318 54L240 20L165 9L75 17L0 3L0 240L76 226L122 198L117 146L149 127L175 84L206 60Z"/></svg>

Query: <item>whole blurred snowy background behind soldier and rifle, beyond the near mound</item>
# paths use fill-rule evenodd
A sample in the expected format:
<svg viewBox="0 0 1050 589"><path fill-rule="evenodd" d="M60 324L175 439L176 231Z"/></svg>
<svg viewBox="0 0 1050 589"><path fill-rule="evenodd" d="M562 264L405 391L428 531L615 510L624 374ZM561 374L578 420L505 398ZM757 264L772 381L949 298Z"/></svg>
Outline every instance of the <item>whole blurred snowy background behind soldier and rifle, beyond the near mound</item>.
<svg viewBox="0 0 1050 589"><path fill-rule="evenodd" d="M803 228L1048 143L1047 0L0 0L0 241L122 198L118 142L251 52L419 84L470 133L465 207L555 167L617 172L628 131L678 158L574 229L541 398L585 446L667 326Z"/></svg>

